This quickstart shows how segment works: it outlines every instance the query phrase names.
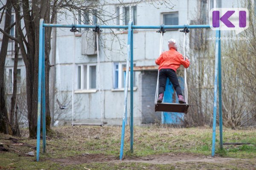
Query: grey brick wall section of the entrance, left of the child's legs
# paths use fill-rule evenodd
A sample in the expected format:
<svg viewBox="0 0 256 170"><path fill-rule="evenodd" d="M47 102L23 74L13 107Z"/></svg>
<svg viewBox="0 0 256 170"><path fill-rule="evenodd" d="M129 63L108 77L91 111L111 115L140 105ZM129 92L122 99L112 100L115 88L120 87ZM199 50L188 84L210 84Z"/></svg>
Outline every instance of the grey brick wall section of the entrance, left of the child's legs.
<svg viewBox="0 0 256 170"><path fill-rule="evenodd" d="M143 124L161 122L161 112L154 111L154 98L157 85L157 71L142 71L138 87L141 120Z"/></svg>

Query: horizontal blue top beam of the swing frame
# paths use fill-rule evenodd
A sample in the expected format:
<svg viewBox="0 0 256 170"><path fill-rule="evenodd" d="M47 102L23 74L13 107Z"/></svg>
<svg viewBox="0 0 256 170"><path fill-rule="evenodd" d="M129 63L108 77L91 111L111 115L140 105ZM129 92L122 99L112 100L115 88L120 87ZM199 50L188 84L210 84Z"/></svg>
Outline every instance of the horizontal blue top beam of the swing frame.
<svg viewBox="0 0 256 170"><path fill-rule="evenodd" d="M123 28L128 29L128 26L106 26L106 25L81 25L81 24L47 24L44 23L43 27L60 27L60 28ZM177 25L177 26L131 26L132 29L182 29L182 28L211 28L210 25Z"/></svg>

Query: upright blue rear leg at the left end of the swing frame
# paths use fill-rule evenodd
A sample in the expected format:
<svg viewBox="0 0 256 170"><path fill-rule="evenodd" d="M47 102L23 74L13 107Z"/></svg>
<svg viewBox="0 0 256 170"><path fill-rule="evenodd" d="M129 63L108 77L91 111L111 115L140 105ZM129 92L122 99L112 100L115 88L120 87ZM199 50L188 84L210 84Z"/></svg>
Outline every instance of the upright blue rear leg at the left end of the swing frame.
<svg viewBox="0 0 256 170"><path fill-rule="evenodd" d="M43 153L46 147L46 122L45 122L45 48L44 48L44 28L43 28L43 56L42 56L42 123L43 123Z"/></svg>

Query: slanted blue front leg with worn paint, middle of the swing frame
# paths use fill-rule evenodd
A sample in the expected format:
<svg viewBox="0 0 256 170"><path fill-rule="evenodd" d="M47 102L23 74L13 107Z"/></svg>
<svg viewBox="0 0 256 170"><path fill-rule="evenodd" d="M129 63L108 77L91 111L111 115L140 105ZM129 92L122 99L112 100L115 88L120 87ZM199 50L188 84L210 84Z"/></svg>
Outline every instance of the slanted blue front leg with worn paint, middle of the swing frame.
<svg viewBox="0 0 256 170"><path fill-rule="evenodd" d="M126 75L125 75L125 99L124 99L124 111L122 120L122 136L120 145L120 156L119 159L122 160L124 151L124 140L125 140L125 121L127 117L127 94L128 94L128 76L129 76L129 60L131 54L131 25L128 28L128 43L127 43L127 59L126 59Z"/></svg>

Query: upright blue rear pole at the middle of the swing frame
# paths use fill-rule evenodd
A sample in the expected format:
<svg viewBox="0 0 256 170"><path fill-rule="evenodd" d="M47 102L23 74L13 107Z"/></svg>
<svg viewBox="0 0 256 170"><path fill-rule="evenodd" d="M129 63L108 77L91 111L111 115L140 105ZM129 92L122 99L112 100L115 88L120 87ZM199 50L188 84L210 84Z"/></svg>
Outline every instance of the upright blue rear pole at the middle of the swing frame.
<svg viewBox="0 0 256 170"><path fill-rule="evenodd" d="M129 22L129 27L132 26L132 21ZM133 88L134 88L134 85L133 85L133 82L134 82L134 75L133 75L133 29L131 29L131 85L130 85L130 88L131 88L131 116L130 116L130 132L131 132L131 139L130 139L130 150L131 152L133 152Z"/></svg>

